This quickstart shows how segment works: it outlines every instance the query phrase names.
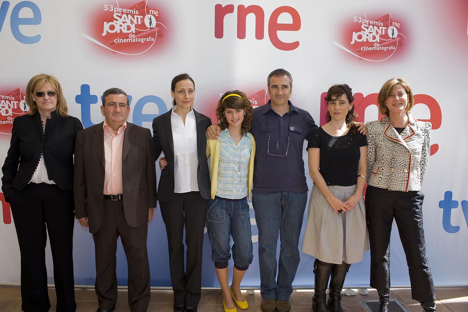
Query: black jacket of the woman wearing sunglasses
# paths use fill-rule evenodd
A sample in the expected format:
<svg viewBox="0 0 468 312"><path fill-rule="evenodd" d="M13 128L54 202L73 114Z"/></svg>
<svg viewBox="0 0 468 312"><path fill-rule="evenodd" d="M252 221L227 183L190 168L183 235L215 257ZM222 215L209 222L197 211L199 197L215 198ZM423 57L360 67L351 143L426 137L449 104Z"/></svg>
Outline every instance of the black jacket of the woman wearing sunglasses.
<svg viewBox="0 0 468 312"><path fill-rule="evenodd" d="M1 189L7 200L12 187L22 190L36 171L41 154L47 176L61 190L73 188L73 152L76 134L83 129L80 119L61 117L55 111L47 119L45 133L39 113L22 115L13 120L10 149L2 167ZM18 166L19 165L19 166Z"/></svg>

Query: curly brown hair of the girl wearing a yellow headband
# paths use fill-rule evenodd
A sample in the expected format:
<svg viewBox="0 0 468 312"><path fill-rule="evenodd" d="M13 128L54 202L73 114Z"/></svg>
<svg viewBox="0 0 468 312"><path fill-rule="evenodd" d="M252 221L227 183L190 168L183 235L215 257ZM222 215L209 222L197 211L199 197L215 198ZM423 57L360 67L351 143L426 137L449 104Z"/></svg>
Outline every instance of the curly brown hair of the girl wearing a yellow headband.
<svg viewBox="0 0 468 312"><path fill-rule="evenodd" d="M230 94L236 94L237 96L227 97ZM223 101L224 100L224 101ZM218 116L218 125L221 127L221 130L227 128L228 123L226 120L226 116L224 115L224 111L227 108L231 109L241 109L245 110L244 120L241 124L241 131L243 135L246 135L247 132L250 130L250 126L252 125L252 118L254 116L252 110L252 104L250 103L249 99L245 95L244 92L239 90L227 91L222 97L219 99L218 107L216 107L216 115Z"/></svg>

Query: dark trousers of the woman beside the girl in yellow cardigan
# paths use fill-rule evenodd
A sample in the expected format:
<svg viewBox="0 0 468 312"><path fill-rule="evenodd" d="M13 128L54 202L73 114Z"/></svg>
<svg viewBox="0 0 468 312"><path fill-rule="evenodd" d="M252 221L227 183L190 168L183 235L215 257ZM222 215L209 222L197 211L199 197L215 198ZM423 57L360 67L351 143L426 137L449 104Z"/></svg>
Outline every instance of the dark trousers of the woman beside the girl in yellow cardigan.
<svg viewBox="0 0 468 312"><path fill-rule="evenodd" d="M169 269L174 304L197 306L202 287L203 231L206 200L200 192L174 193L171 202L159 203L166 224L169 247ZM183 227L187 244L187 267L184 272Z"/></svg>

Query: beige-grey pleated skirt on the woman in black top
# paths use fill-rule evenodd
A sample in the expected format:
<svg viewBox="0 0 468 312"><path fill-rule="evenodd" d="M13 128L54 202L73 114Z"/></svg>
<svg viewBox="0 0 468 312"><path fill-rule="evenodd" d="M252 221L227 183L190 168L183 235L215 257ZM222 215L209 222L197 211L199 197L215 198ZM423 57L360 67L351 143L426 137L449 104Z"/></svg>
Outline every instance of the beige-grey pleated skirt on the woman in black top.
<svg viewBox="0 0 468 312"><path fill-rule="evenodd" d="M340 201L356 192L354 186L329 186ZM302 252L329 263L356 263L369 250L364 199L343 214L337 214L314 185L307 210Z"/></svg>

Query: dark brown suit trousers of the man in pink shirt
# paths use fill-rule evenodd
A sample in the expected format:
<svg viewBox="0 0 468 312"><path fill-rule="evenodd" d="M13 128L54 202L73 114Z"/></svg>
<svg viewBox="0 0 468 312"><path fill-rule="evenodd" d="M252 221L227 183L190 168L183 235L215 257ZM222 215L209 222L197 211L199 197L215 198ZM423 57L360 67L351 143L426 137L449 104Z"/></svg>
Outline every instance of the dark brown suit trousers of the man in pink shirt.
<svg viewBox="0 0 468 312"><path fill-rule="evenodd" d="M120 236L128 264L128 306L132 311L146 311L151 296L147 234L148 224L137 228L128 225L123 201L104 200L102 224L93 234L99 308L109 310L117 302L116 252Z"/></svg>

